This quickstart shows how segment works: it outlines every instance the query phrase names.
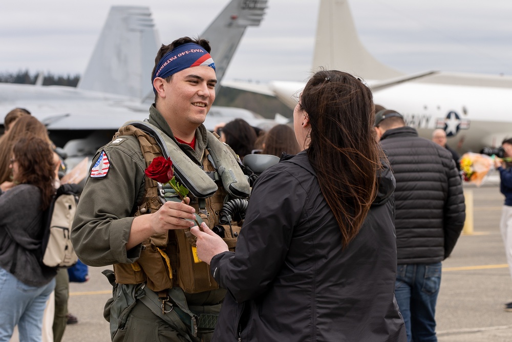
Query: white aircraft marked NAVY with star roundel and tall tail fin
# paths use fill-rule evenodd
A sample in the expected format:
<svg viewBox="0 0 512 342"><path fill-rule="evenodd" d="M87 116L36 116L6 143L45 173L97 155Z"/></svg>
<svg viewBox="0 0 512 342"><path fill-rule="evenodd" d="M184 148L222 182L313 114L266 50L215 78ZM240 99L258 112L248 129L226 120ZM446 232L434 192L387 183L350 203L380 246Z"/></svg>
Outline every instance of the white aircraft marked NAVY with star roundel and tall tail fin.
<svg viewBox="0 0 512 342"><path fill-rule="evenodd" d="M361 77L376 104L401 113L424 138L444 129L448 144L461 153L497 147L512 136L512 77L440 71L406 75L383 65L361 44L347 0L320 1L312 70L318 67ZM273 94L294 108L305 83L223 85Z"/></svg>

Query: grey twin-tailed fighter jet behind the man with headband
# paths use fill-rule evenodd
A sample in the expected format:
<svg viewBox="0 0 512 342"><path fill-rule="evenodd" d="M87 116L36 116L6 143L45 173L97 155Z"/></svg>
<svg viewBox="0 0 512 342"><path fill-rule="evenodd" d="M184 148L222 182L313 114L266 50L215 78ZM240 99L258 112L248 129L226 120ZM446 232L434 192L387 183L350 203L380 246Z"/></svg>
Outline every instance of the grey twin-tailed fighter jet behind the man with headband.
<svg viewBox="0 0 512 342"><path fill-rule="evenodd" d="M232 0L200 36L210 41L220 81L248 26L259 26L267 0ZM113 6L78 86L0 83L0 123L16 107L45 123L70 157L91 156L128 120L147 118L154 101L151 72L161 41L147 7ZM178 38L178 37L174 37ZM244 118L269 124L245 109L212 106L205 126Z"/></svg>

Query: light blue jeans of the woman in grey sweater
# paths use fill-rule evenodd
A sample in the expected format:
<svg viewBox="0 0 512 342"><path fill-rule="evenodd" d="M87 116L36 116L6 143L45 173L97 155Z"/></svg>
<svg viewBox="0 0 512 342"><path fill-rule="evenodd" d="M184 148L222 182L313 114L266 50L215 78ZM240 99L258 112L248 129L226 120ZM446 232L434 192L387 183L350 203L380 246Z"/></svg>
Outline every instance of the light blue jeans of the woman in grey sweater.
<svg viewBox="0 0 512 342"><path fill-rule="evenodd" d="M42 315L54 288L55 279L34 287L0 268L0 342L9 342L16 325L20 341L40 342Z"/></svg>

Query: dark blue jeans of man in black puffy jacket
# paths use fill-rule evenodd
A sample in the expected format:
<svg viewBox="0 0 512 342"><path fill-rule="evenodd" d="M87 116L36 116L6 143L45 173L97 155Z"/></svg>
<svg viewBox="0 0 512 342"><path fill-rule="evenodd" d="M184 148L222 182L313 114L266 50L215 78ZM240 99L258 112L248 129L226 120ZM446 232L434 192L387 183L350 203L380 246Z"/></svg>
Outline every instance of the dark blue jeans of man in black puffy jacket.
<svg viewBox="0 0 512 342"><path fill-rule="evenodd" d="M440 285L440 262L398 265L395 297L408 342L437 342L435 315Z"/></svg>

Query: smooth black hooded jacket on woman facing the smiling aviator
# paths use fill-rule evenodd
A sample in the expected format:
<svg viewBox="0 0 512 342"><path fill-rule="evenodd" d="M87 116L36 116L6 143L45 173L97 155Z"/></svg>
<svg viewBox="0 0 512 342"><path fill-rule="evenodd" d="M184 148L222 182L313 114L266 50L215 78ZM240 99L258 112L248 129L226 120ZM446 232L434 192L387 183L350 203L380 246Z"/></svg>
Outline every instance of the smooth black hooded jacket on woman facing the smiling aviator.
<svg viewBox="0 0 512 342"><path fill-rule="evenodd" d="M211 270L228 290L212 341L405 341L394 299L395 184L389 168L359 234L341 232L305 152L254 185L237 251Z"/></svg>

